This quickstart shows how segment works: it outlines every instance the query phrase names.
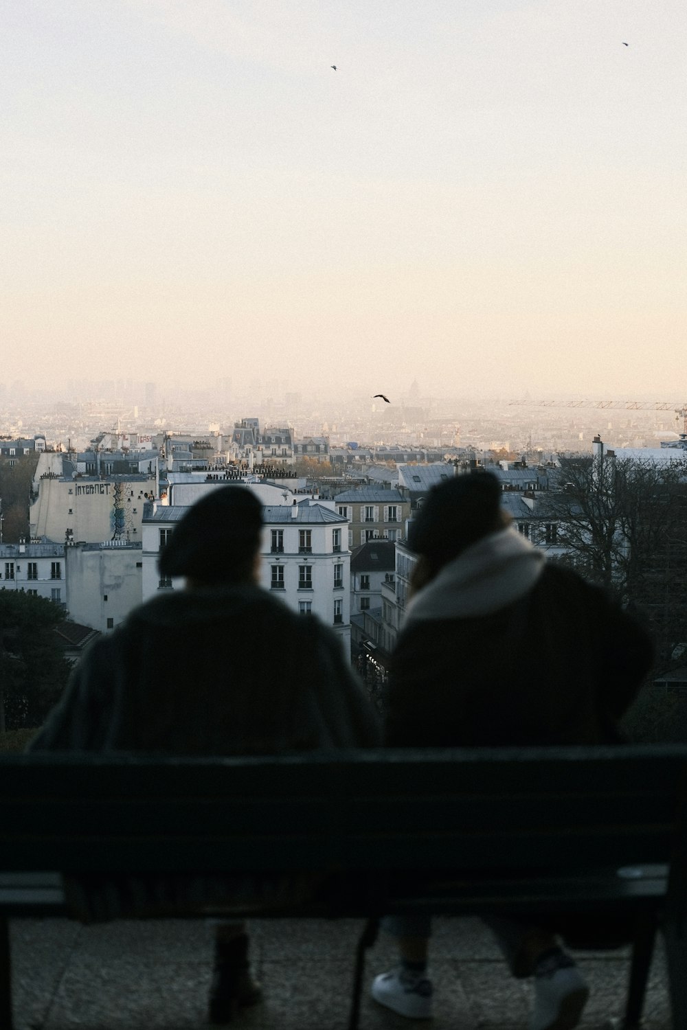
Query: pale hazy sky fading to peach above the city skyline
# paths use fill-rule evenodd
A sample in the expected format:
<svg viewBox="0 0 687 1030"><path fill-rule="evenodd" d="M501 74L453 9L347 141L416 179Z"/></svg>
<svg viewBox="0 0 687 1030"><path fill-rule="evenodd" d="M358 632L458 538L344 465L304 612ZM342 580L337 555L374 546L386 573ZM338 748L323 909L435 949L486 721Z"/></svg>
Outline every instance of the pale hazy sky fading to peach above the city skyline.
<svg viewBox="0 0 687 1030"><path fill-rule="evenodd" d="M3 0L0 56L0 381L687 400L685 0Z"/></svg>

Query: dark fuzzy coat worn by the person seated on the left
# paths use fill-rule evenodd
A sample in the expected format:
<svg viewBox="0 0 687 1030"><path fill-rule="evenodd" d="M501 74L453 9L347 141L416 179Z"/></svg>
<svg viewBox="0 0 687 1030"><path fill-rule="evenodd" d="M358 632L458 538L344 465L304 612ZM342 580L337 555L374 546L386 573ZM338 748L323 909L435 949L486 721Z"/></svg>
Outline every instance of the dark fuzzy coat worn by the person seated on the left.
<svg viewBox="0 0 687 1030"><path fill-rule="evenodd" d="M337 637L253 585L181 590L97 640L30 745L173 755L379 743Z"/></svg>

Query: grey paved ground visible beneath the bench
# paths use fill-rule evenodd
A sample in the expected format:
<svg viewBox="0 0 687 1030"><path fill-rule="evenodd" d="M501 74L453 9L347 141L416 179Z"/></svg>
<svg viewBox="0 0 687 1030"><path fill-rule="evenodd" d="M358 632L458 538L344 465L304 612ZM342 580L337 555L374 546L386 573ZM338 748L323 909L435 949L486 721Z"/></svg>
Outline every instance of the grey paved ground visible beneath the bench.
<svg viewBox="0 0 687 1030"><path fill-rule="evenodd" d="M266 998L242 1014L236 1030L343 1030L359 926L354 920L253 921L253 965ZM82 927L66 920L16 921L16 1030L201 1030L210 951L210 932L201 922ZM437 920L433 954L432 1023L393 1016L366 991L362 1030L525 1030L528 986L508 975L478 920ZM621 1011L626 953L578 958L592 987L581 1026L602 1030ZM391 941L382 937L370 954L367 983L392 964ZM646 1030L671 1030L660 951L645 1017Z"/></svg>

